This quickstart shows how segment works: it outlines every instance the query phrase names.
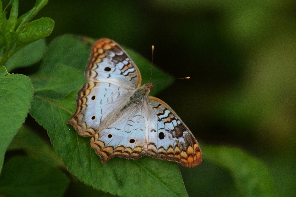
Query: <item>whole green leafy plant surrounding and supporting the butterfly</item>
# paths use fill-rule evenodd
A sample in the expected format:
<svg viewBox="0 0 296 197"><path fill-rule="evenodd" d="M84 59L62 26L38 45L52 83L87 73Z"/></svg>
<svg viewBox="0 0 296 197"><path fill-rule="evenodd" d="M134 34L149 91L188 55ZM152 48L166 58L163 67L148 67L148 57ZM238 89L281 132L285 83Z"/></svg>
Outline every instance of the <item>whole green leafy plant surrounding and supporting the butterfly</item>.
<svg viewBox="0 0 296 197"><path fill-rule="evenodd" d="M26 154L12 157L5 163L0 176L0 194L62 196L70 181L75 184L71 173L86 185L112 195L187 196L175 162L145 156L139 160L113 158L102 164L99 156L91 149L89 139L78 136L73 127L66 124L75 111L77 92L86 82L83 72L94 40L62 35L52 40L48 46L44 40L36 41L49 35L53 28L50 19L29 22L37 13L36 10L41 9L46 2L36 1L36 8L32 9L34 11L15 19L17 1L10 1L12 19L9 17L8 20L3 20L3 23L7 21L7 25L6 33L2 34L1 31L3 53L0 58L7 70L31 65L46 52L38 72L29 77L9 74L5 67L0 67L1 167L5 151L22 150ZM6 10L7 7L2 12L1 19L6 15L3 14ZM1 23L2 20L0 25ZM13 28L8 26L11 23L14 24ZM25 23L30 25L26 28L23 26ZM36 30L41 30L41 33L36 34ZM29 44L30 42L33 43ZM27 44L29 45L25 46ZM41 54L34 54L34 51L41 51ZM148 81L149 61L132 50L126 51L138 65L143 81ZM27 62L17 61L26 59L28 54L32 58ZM157 67L153 69L153 80L171 78ZM169 82L158 83L153 93L156 94L168 85ZM55 152L48 143L32 132L32 128L26 124L21 127L28 112L47 130ZM205 162L219 165L230 172L240 195L274 196L270 172L262 162L238 148L203 144L201 148ZM66 173L68 176L65 175L66 170L70 172ZM26 179L33 181L24 181ZM24 185L26 187L22 187Z"/></svg>

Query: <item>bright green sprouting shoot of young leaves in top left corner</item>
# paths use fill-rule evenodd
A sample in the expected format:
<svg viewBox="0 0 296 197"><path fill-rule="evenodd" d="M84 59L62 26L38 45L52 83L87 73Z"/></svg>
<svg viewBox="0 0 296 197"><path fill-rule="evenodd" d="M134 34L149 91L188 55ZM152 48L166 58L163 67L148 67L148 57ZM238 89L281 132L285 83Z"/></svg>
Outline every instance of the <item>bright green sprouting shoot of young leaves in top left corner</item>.
<svg viewBox="0 0 296 197"><path fill-rule="evenodd" d="M46 5L47 0L36 0L34 7L27 13L18 17L18 0L11 0L2 9L0 1L0 65L4 65L7 60L18 50L33 41L48 36L54 27L54 21L50 18L40 18L30 21L37 12ZM7 13L9 12L7 18Z"/></svg>

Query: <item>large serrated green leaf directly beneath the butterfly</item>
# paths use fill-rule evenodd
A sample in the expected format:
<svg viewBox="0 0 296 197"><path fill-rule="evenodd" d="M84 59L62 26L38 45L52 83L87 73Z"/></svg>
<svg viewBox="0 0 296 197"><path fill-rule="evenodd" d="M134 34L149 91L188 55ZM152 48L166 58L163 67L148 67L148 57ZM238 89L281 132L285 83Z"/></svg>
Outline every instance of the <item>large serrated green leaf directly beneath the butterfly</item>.
<svg viewBox="0 0 296 197"><path fill-rule="evenodd" d="M72 99L75 99L74 95ZM47 129L53 148L69 172L79 180L119 196L144 196L147 193L151 196L186 196L176 163L146 156L137 161L113 158L102 164L90 147L89 138L78 136L73 127L66 125L72 112L59 105L57 100L38 96L34 97L30 109L35 120Z"/></svg>

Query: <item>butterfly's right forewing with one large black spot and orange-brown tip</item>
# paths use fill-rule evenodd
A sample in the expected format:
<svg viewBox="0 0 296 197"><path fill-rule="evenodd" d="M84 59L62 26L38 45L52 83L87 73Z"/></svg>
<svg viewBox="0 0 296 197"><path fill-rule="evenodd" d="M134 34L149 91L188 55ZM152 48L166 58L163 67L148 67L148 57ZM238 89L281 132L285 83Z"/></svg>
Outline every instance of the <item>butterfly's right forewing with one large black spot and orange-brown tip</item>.
<svg viewBox="0 0 296 197"><path fill-rule="evenodd" d="M184 122L166 103L148 96L144 111L144 150L152 157L193 167L202 161L200 146Z"/></svg>

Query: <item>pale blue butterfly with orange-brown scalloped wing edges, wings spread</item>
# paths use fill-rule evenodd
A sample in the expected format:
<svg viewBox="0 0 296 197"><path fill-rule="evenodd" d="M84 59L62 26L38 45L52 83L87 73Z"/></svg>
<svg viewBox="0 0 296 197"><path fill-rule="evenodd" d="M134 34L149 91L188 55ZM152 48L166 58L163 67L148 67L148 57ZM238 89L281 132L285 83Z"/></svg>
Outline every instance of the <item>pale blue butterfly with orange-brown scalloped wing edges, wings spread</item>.
<svg viewBox="0 0 296 197"><path fill-rule="evenodd" d="M165 102L148 95L153 83L141 86L138 67L116 42L94 43L85 76L67 124L91 137L102 163L149 155L186 167L200 164L200 146L188 127Z"/></svg>

